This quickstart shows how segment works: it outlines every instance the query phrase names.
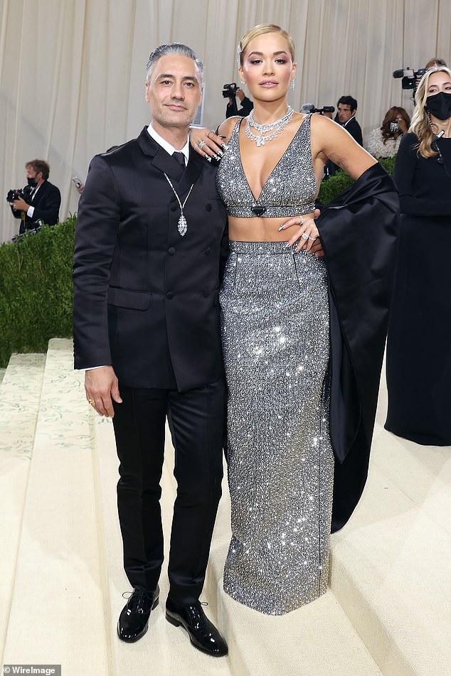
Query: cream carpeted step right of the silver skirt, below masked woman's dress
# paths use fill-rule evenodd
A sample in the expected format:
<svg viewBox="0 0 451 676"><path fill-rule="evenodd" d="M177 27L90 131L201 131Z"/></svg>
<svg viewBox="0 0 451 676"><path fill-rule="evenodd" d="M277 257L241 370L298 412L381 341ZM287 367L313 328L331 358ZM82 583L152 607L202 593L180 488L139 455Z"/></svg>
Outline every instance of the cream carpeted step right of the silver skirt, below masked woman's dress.
<svg viewBox="0 0 451 676"><path fill-rule="evenodd" d="M364 497L332 538L331 588L386 676L451 674L451 448L383 429Z"/></svg>

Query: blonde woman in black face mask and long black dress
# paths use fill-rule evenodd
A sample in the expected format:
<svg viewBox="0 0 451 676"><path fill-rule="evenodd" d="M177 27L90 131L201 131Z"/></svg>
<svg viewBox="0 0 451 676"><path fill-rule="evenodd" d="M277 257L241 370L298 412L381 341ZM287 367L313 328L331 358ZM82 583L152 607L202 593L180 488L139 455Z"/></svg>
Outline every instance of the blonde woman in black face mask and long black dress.
<svg viewBox="0 0 451 676"><path fill-rule="evenodd" d="M430 68L415 94L393 178L398 269L387 340L386 429L451 444L451 70Z"/></svg>

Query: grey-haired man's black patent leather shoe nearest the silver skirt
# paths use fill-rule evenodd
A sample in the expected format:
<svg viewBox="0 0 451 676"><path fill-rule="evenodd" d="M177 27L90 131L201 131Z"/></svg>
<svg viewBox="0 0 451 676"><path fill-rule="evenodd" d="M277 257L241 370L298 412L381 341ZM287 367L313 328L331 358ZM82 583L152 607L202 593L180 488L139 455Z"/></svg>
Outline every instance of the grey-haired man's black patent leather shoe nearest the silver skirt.
<svg viewBox="0 0 451 676"><path fill-rule="evenodd" d="M206 617L199 601L189 606L175 606L171 599L167 599L166 620L175 627L184 627L189 640L198 650L203 650L204 653L216 658L227 655L226 641Z"/></svg>

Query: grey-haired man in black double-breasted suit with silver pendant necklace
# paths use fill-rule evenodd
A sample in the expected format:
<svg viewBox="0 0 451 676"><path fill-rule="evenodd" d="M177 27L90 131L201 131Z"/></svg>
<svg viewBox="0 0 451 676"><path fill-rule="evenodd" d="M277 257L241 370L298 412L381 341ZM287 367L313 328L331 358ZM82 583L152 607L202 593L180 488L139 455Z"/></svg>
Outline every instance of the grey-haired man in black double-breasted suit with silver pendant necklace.
<svg viewBox="0 0 451 676"><path fill-rule="evenodd" d="M218 286L228 249L216 169L189 146L203 65L185 45L147 64L152 122L92 159L75 235L75 367L113 418L124 569L134 592L117 631L133 642L159 599L166 417L177 496L166 619L211 655L227 645L198 601L221 496L225 387Z"/></svg>

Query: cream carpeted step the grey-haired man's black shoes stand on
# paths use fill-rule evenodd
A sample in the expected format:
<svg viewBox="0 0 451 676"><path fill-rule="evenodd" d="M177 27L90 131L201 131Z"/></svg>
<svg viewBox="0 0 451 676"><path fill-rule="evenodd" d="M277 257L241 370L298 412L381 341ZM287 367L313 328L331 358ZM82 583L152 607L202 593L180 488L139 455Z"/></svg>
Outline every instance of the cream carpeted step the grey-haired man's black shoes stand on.
<svg viewBox="0 0 451 676"><path fill-rule="evenodd" d="M172 626L164 617L164 603L169 589L166 562L175 496L175 481L171 474L171 467L174 464L174 451L170 441L166 441L166 461L161 480L163 490L161 510L166 540L166 560L159 584L159 606L152 611L149 631L141 640L137 643L127 644L117 638L117 618L125 603L122 594L131 591L122 567L122 540L117 519L118 461L112 422L97 417L94 412L92 412L92 417L95 419L98 490L102 500L105 532L105 560L107 562L109 595L107 621L112 658L111 675L230 676L234 674L235 672L230 671L230 664L226 658L211 658L196 650L189 643L184 630ZM167 432L167 439L169 439L169 431ZM205 594L205 598L210 600L208 594ZM216 620L211 608L207 609L207 613L213 621Z"/></svg>

